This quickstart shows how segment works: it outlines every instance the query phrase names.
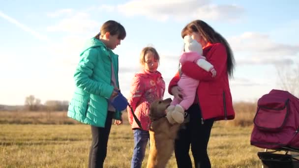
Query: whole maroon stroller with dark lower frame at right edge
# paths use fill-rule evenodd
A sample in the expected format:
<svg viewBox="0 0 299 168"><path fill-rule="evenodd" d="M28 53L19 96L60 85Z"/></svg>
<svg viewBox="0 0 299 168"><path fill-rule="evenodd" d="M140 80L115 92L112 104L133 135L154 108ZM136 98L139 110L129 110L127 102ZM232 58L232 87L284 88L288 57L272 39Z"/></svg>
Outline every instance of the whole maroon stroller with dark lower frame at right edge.
<svg viewBox="0 0 299 168"><path fill-rule="evenodd" d="M263 167L299 168L299 99L271 90L258 100L253 122L250 144L265 148L258 152Z"/></svg>

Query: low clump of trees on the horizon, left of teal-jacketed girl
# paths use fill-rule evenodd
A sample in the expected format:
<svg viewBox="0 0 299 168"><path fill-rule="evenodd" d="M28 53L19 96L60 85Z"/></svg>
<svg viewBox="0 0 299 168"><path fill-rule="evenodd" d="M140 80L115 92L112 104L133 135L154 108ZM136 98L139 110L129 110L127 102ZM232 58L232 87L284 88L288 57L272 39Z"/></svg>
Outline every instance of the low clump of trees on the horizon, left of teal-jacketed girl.
<svg viewBox="0 0 299 168"><path fill-rule="evenodd" d="M25 108L28 111L67 111L68 104L68 101L59 100L47 100L42 104L34 95L25 98Z"/></svg>

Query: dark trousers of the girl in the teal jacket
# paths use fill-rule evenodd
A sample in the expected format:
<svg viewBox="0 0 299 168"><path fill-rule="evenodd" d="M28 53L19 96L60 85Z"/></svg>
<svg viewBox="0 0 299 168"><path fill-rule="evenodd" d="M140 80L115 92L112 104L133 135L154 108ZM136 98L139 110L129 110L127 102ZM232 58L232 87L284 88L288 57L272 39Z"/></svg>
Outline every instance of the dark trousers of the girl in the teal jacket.
<svg viewBox="0 0 299 168"><path fill-rule="evenodd" d="M92 142L90 146L89 168L103 168L113 114L114 112L108 111L105 128L91 125Z"/></svg>

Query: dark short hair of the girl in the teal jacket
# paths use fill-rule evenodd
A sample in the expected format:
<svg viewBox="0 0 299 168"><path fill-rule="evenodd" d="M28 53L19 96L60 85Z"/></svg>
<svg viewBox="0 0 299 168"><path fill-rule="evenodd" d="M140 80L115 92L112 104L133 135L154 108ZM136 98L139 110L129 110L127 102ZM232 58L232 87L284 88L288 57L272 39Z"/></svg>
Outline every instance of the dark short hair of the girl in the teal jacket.
<svg viewBox="0 0 299 168"><path fill-rule="evenodd" d="M110 20L102 25L100 32L94 38L99 39L100 35L104 35L106 32L110 32L110 35L117 34L120 40L123 40L126 36L124 27L120 23Z"/></svg>

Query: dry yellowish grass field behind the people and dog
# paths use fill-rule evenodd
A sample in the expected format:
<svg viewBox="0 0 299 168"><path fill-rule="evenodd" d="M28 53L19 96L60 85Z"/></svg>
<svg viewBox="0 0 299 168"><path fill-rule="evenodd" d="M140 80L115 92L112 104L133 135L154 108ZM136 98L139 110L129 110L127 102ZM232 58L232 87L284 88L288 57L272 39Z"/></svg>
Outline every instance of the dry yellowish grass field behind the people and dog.
<svg viewBox="0 0 299 168"><path fill-rule="evenodd" d="M260 148L250 145L251 127L215 123L209 141L212 168L261 168ZM87 168L90 126L0 124L1 168ZM133 134L113 125L105 168L129 168ZM149 148L143 162L146 167ZM176 168L174 156L168 168Z"/></svg>

